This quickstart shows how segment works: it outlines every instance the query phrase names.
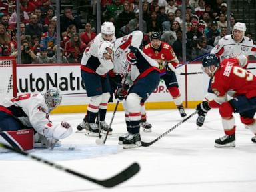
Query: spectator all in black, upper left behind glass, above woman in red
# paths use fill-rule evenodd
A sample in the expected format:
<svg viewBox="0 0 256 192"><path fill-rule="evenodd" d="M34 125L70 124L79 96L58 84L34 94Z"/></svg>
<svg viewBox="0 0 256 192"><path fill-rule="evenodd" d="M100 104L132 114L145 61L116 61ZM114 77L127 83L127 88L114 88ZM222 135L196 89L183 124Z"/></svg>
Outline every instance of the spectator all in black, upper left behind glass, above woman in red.
<svg viewBox="0 0 256 192"><path fill-rule="evenodd" d="M75 25L76 29L81 29L82 23L78 16L73 16L72 9L66 7L64 15L61 16L61 34L67 31L69 25Z"/></svg>

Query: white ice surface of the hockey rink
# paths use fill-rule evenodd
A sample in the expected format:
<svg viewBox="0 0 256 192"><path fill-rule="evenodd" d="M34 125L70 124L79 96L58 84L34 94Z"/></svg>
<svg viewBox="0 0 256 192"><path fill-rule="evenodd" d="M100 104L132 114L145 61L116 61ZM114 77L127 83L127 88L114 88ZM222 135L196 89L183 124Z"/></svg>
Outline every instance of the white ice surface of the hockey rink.
<svg viewBox="0 0 256 192"><path fill-rule="evenodd" d="M194 111L186 109L187 115ZM107 123L112 115L111 111L107 113ZM217 109L209 111L200 129L195 124L195 115L150 147L137 149L123 149L117 144L118 137L126 133L123 111L115 114L113 135L109 135L103 146L95 144L97 137L87 137L83 131L75 133L83 116L83 113L51 115L53 122L65 119L71 123L73 135L63 139L61 147L53 151L29 152L96 179L112 177L137 162L141 166L137 175L107 189L21 155L0 153L0 191L235 192L256 189L256 144L251 142L253 134L244 128L238 115L235 115L236 147L222 149L214 147L215 139L224 135ZM145 142L181 121L176 109L147 111L147 119L153 125L153 132L143 133L141 129L141 139ZM69 150L69 147L75 149Z"/></svg>

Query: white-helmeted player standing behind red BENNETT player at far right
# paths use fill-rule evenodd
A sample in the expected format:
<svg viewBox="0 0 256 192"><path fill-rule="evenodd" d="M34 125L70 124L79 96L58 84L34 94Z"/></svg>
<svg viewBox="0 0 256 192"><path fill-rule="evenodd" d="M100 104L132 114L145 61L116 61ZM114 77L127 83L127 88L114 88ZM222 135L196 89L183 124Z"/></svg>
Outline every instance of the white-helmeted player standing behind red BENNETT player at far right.
<svg viewBox="0 0 256 192"><path fill-rule="evenodd" d="M239 55L248 56L256 54L253 40L245 36L245 31L245 23L235 23L232 34L221 38L218 44L211 50L211 54L215 54L221 59L238 57ZM241 65L241 67L246 69L247 63ZM205 101L211 101L214 97L210 85L211 82L209 83L208 93L205 95ZM197 125L199 127L203 125L206 114L207 113L199 114L199 117L197 118Z"/></svg>

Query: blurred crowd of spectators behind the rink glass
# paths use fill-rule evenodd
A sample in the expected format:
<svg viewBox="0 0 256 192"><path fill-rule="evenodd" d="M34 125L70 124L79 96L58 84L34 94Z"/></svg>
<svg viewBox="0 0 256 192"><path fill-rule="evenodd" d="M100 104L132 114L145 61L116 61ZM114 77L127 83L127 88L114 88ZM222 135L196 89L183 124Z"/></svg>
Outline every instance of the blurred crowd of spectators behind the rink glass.
<svg viewBox="0 0 256 192"><path fill-rule="evenodd" d="M51 0L20 0L21 63L56 63L56 10ZM79 63L83 51L95 33L95 1L71 1L73 6L61 10L61 63ZM182 58L182 33L186 33L187 59L209 53L227 29L227 3L222 0L186 0L185 19L181 0L143 1L144 43L151 32L160 32L162 41L171 45ZM73 7L78 7L76 12ZM63 8L63 7L62 7ZM75 13L74 13L75 12ZM83 21L83 22L82 22ZM101 0L101 23L111 21L116 36L139 29L139 0ZM185 22L186 31L181 30ZM0 56L17 57L17 14L15 0L0 2ZM252 38L251 33L245 33ZM144 45L145 45L144 44Z"/></svg>

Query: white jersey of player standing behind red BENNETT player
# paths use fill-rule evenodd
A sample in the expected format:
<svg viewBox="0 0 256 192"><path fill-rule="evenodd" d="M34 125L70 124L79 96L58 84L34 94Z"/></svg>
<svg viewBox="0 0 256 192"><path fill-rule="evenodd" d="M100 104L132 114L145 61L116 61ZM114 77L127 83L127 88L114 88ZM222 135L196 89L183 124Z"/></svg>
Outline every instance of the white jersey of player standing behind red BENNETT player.
<svg viewBox="0 0 256 192"><path fill-rule="evenodd" d="M233 39L233 35L226 35L211 49L211 54L220 55L221 59L238 57L239 55L255 55L253 46L253 40L249 37L244 36L243 40L237 43Z"/></svg>

